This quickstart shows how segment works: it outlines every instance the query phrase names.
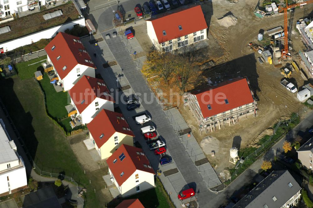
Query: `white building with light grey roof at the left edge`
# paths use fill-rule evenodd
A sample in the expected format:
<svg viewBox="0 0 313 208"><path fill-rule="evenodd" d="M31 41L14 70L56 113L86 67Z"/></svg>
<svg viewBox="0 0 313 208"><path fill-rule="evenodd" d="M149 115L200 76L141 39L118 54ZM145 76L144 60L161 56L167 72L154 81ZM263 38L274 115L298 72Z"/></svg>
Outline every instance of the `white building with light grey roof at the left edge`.
<svg viewBox="0 0 313 208"><path fill-rule="evenodd" d="M18 155L2 119L0 123L0 195L7 195L18 188L26 188L27 178L24 161Z"/></svg>

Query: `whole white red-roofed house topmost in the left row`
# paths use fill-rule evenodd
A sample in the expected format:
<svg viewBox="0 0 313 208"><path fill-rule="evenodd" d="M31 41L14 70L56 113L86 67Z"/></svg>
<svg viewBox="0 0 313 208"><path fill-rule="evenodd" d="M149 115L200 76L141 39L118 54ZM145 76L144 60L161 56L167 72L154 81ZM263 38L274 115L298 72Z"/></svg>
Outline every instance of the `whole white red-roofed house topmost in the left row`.
<svg viewBox="0 0 313 208"><path fill-rule="evenodd" d="M79 37L59 32L44 49L64 91L83 75L95 77L95 64Z"/></svg>

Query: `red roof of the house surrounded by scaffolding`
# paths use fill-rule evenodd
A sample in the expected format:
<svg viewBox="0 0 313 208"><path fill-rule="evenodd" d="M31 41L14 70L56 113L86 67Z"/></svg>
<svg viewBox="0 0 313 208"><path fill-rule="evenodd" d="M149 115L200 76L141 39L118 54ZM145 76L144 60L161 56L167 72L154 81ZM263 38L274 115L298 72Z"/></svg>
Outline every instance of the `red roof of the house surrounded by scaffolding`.
<svg viewBox="0 0 313 208"><path fill-rule="evenodd" d="M225 81L216 87L210 88L212 89L208 91L193 93L197 97L203 118L214 116L254 101L245 78ZM228 104L225 103L225 99L228 100ZM211 110L208 109L208 105L211 106Z"/></svg>

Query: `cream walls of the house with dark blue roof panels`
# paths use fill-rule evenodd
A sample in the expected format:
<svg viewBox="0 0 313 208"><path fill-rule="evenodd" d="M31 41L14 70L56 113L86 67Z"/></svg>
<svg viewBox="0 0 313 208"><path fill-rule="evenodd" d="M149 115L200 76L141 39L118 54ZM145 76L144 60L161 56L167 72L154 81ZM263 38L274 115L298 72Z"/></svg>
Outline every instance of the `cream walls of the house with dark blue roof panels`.
<svg viewBox="0 0 313 208"><path fill-rule="evenodd" d="M109 174L122 197L127 197L154 188L154 174L152 173L136 170L121 186L116 182L110 168ZM117 177L123 176L118 175Z"/></svg>

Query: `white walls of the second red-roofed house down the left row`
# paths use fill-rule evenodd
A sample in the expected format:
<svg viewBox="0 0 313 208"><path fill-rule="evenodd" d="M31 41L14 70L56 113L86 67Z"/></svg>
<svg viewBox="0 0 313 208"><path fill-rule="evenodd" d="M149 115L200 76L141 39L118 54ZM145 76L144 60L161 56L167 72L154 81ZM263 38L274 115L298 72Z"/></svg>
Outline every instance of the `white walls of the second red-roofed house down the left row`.
<svg viewBox="0 0 313 208"><path fill-rule="evenodd" d="M83 93L83 92L82 92ZM96 102L98 102L98 105L96 106ZM75 107L77 110L77 115L80 115L81 123L87 124L89 123L102 109L106 109L109 111L114 112L114 102L108 101L99 97L96 97L94 101L92 101L83 112L79 112L79 110L76 108L74 101L71 98L71 104Z"/></svg>

